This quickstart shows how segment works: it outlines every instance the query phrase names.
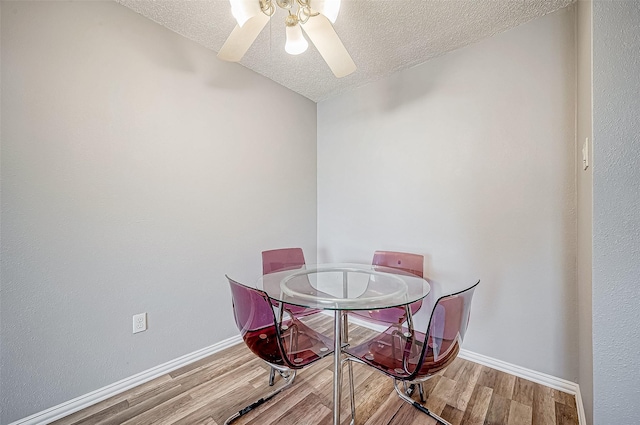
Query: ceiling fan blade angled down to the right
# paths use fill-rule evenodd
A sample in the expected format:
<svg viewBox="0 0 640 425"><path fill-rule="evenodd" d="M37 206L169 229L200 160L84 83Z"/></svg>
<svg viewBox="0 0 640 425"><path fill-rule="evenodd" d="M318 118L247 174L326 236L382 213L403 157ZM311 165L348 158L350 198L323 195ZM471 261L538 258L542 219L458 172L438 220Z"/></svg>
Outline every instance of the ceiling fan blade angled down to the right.
<svg viewBox="0 0 640 425"><path fill-rule="evenodd" d="M301 26L336 77L342 78L357 69L326 16L312 16Z"/></svg>

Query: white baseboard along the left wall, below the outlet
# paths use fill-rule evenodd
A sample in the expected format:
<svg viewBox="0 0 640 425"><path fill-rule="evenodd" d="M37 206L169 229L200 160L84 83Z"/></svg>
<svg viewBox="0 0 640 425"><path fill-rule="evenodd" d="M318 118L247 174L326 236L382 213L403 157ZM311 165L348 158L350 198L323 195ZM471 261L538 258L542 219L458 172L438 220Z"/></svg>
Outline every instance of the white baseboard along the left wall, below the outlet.
<svg viewBox="0 0 640 425"><path fill-rule="evenodd" d="M178 357L177 359L170 360L156 367L152 367L151 369L147 369L144 372L140 372L111 385L107 385L106 387L97 389L80 397L76 397L73 400L53 406L26 418L19 419L9 425L44 425L51 423L79 410L86 409L87 407L106 400L109 397L113 397L121 392L137 387L138 385L144 384L152 379L158 378L185 365L217 353L218 351L222 351L225 348L231 347L241 341L242 338L240 335L232 336L231 338L227 338L216 344L210 345L209 347L205 347L201 350Z"/></svg>

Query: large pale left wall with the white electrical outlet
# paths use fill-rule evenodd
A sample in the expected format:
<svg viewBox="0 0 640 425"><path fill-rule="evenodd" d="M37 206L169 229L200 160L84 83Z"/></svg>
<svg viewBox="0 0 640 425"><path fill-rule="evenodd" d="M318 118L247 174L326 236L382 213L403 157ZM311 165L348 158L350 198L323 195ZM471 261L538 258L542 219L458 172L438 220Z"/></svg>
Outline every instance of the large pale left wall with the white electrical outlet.
<svg viewBox="0 0 640 425"><path fill-rule="evenodd" d="M8 423L237 334L261 250L315 258L316 105L113 2L1 29Z"/></svg>

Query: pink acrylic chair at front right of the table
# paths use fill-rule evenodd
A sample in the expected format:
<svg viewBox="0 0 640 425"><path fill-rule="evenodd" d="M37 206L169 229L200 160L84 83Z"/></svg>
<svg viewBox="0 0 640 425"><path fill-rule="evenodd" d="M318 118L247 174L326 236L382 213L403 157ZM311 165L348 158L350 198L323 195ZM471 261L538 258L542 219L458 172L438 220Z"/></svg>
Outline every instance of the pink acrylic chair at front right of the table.
<svg viewBox="0 0 640 425"><path fill-rule="evenodd" d="M426 333L407 327L390 326L374 338L347 347L345 361L356 361L374 367L394 379L400 398L445 425L450 425L422 404L413 401L399 382L422 383L447 367L457 357L469 324L471 300L480 281L464 291L438 299L431 313ZM351 385L353 393L353 385ZM421 401L424 402L421 392ZM352 397L353 400L353 397ZM353 403L353 402L352 402ZM355 421L355 406L352 405Z"/></svg>

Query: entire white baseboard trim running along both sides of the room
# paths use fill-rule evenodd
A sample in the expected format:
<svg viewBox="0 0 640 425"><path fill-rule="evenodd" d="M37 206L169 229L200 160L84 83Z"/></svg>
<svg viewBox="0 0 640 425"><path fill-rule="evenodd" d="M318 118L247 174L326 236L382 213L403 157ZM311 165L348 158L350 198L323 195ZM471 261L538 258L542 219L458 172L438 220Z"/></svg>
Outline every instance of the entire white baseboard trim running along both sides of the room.
<svg viewBox="0 0 640 425"><path fill-rule="evenodd" d="M326 312L327 315L333 316L332 313ZM386 329L385 326L375 325L365 320L360 320L357 317L350 317L349 322L382 332ZM68 416L79 410L92 406L100 401L106 400L109 397L120 394L123 391L134 388L173 370L179 369L189 363L193 363L232 345L238 344L242 341L240 335L225 339L217 344L213 344L209 347L203 348L193 353L186 354L177 359L171 360L167 363L163 363L159 366L148 369L144 372L125 378L114 384L107 385L96 391L92 391L83 396L74 398L73 400L61 403L50 409L31 415L27 418L20 419L16 422L12 422L9 425L44 425L53 422L57 419ZM559 391L563 391L574 395L576 397L576 405L578 408L578 423L579 425L587 425L587 421L584 413L584 405L582 404L582 396L580 394L580 386L575 382L567 381L565 379L557 378L555 376L547 375L546 373L537 372L535 370L527 369L521 366L517 366L511 363L507 363L502 360L494 359L482 354L474 353L465 349L460 350L459 356L465 360L472 361L474 363L481 364L502 372L509 373L511 375L518 376L529 381L536 382L541 385L545 385L550 388L554 388Z"/></svg>

